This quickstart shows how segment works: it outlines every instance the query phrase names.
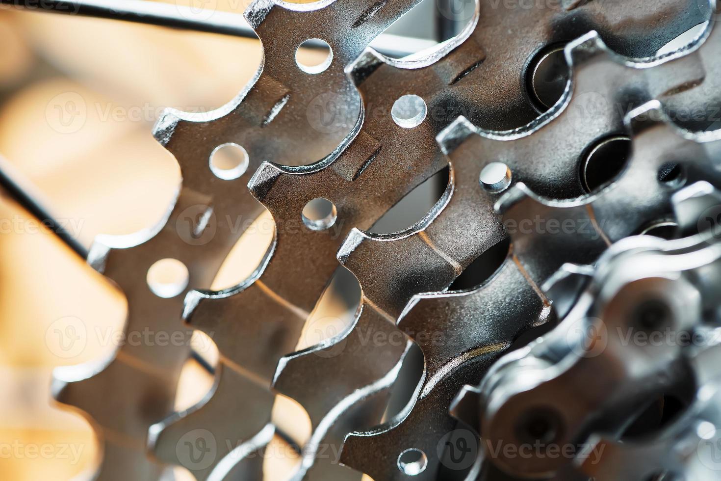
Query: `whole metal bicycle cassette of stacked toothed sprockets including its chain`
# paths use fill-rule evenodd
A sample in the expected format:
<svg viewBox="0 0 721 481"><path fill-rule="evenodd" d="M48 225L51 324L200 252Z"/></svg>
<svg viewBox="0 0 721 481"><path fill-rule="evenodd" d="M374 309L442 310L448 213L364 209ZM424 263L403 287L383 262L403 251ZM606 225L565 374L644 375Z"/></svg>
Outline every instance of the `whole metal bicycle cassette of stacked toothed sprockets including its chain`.
<svg viewBox="0 0 721 481"><path fill-rule="evenodd" d="M126 334L183 342L123 344L56 370L54 395L102 445L97 479L166 479L172 465L201 481L261 479L275 394L311 421L292 480L715 479L703 448L721 428L711 341L721 131L704 131L721 107L716 2L481 0L433 50L394 60L368 47L417 3L256 0L244 13L264 51L252 81L218 110L168 110L156 124L182 171L176 198L153 229L99 237L87 258L125 294ZM237 14L205 22L135 0L46 6L245 35ZM326 61L298 63L306 40L327 43ZM239 166L213 166L225 148L242 154ZM422 219L371 232L443 169L446 188ZM11 176L0 181L50 218ZM319 200L327 212L310 219ZM211 291L244 234L218 219L265 209L275 234L257 269ZM660 231L686 237L649 235ZM187 278L159 291L146 276L168 259ZM479 262L488 275L455 290ZM353 322L296 351L340 265L361 286ZM629 327L709 342L627 345ZM218 347L215 384L174 412L193 330ZM588 333L599 330L596 352ZM414 344L420 381L385 419ZM681 415L624 438L670 391L683 393ZM536 441L541 451L518 456ZM547 444L573 449L547 456Z"/></svg>

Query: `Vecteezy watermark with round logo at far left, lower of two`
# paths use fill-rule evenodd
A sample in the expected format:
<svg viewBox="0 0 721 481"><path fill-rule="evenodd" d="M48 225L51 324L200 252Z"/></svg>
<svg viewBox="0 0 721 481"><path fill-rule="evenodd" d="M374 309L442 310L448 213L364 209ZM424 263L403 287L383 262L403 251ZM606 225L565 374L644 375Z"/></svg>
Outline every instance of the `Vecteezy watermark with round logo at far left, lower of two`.
<svg viewBox="0 0 721 481"><path fill-rule="evenodd" d="M200 353L209 353L213 349L214 332L207 336L193 336L193 330L151 330L143 327L142 330L118 330L115 327L94 326L88 329L85 322L78 317L61 317L54 321L45 331L45 345L59 358L74 358L80 356L87 348L89 340L100 346L112 345L120 348L123 345L131 347L146 345L164 348L168 346L190 346Z"/></svg>

